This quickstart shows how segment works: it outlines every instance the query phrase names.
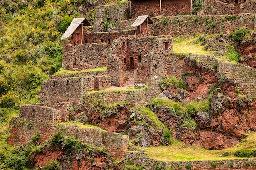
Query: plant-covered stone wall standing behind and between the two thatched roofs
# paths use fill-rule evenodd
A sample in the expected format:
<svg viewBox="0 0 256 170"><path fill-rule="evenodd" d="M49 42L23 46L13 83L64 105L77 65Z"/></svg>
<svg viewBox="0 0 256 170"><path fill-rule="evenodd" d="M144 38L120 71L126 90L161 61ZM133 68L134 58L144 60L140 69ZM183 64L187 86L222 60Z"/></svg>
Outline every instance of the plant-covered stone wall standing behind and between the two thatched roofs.
<svg viewBox="0 0 256 170"><path fill-rule="evenodd" d="M93 32L117 31L120 22L128 15L126 4L96 7Z"/></svg>

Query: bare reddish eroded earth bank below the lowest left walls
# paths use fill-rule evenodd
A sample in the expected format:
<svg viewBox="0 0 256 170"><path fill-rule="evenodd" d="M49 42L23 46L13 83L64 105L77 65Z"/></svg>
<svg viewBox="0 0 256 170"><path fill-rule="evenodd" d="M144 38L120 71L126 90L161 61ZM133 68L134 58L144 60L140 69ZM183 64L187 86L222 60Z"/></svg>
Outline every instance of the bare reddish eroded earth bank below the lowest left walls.
<svg viewBox="0 0 256 170"><path fill-rule="evenodd" d="M67 150L57 147L45 147L42 152L33 154L30 164L40 168L51 160L60 162L60 170L119 170L124 166L123 161L113 164L111 158L104 152L97 149L81 150L79 153L67 152Z"/></svg>

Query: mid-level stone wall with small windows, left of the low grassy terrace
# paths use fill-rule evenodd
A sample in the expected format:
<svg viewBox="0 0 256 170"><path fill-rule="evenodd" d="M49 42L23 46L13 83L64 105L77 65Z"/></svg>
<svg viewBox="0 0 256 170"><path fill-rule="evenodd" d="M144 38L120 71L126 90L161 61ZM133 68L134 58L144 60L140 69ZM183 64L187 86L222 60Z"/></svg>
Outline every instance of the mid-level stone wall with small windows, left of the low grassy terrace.
<svg viewBox="0 0 256 170"><path fill-rule="evenodd" d="M83 93L102 90L107 86L111 86L109 76L50 79L42 82L40 102L46 105L59 102L78 104L83 99Z"/></svg>

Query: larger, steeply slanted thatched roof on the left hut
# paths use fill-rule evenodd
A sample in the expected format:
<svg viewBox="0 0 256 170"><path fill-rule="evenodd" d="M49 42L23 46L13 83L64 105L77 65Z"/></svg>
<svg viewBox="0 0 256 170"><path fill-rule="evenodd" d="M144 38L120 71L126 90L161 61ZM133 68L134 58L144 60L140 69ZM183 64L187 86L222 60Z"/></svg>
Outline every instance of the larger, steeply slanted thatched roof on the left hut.
<svg viewBox="0 0 256 170"><path fill-rule="evenodd" d="M70 26L68 26L66 32L62 35L61 40L68 38L72 33L74 33L74 31L76 31L77 27L79 27L79 25L82 23L84 25L91 26L86 18L74 18L74 20L72 20L72 22L70 23Z"/></svg>

